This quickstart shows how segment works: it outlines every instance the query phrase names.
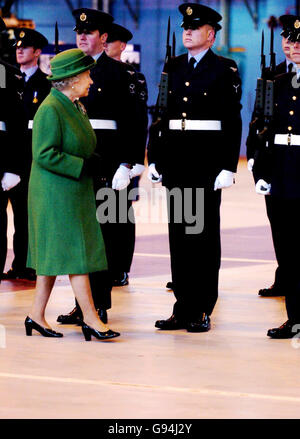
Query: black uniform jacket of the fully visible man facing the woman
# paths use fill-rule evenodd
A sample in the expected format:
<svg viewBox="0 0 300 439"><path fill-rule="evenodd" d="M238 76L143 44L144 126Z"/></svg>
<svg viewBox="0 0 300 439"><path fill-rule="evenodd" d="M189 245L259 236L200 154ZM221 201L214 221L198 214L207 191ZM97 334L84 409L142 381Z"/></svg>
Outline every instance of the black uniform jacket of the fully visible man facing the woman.
<svg viewBox="0 0 300 439"><path fill-rule="evenodd" d="M166 186L212 187L221 170L236 171L241 141L240 87L234 61L211 50L191 74L187 54L171 60L165 129L150 135L148 145L148 161L156 164ZM170 130L172 119L220 121L221 130Z"/></svg>

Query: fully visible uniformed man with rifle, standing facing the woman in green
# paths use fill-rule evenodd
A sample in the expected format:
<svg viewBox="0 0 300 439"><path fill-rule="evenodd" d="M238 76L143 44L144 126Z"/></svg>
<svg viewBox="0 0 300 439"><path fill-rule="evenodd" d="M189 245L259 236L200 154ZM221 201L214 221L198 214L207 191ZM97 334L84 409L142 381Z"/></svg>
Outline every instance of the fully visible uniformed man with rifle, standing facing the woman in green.
<svg viewBox="0 0 300 439"><path fill-rule="evenodd" d="M158 137L150 134L148 146L150 179L162 179L169 191L179 193L168 203L176 303L171 317L158 320L155 326L205 332L210 329L210 315L218 297L221 189L234 183L239 158L240 80L236 64L210 49L221 29L221 15L196 3L184 3L179 11L188 53L169 64L166 128L158 131ZM190 230L186 215L188 210L197 211L201 188L202 232L198 227ZM180 196L182 203L178 203Z"/></svg>

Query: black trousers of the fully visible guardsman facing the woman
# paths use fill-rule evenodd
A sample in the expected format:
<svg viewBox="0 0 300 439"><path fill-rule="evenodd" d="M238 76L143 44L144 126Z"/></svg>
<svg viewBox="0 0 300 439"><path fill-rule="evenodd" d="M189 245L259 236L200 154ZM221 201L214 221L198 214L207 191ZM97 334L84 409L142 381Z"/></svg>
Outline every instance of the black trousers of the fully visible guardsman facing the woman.
<svg viewBox="0 0 300 439"><path fill-rule="evenodd" d="M205 189L204 229L199 234L187 233L186 226L190 224L185 220L184 213L181 223L174 221L172 197L171 201L168 205L169 244L176 297L173 312L181 319L193 320L202 313L210 315L218 298L221 191ZM195 188L193 211L195 212Z"/></svg>

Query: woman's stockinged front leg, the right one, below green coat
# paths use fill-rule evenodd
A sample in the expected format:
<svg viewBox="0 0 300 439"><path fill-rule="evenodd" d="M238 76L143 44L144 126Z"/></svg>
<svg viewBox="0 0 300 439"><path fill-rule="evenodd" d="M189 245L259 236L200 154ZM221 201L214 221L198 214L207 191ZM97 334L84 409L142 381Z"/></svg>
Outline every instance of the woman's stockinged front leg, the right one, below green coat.
<svg viewBox="0 0 300 439"><path fill-rule="evenodd" d="M107 331L108 327L101 322L95 309L88 274L70 274L69 278L74 295L82 310L84 322L97 331Z"/></svg>

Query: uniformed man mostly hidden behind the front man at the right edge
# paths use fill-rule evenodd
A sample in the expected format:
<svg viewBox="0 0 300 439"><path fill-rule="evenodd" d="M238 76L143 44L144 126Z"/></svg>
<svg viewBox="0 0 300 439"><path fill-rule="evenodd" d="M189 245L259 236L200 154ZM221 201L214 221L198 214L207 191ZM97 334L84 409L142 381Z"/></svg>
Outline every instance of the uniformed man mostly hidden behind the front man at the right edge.
<svg viewBox="0 0 300 439"><path fill-rule="evenodd" d="M296 64L292 61L292 59L290 57L291 42L288 40L288 35L294 26L294 22L295 22L296 18L297 17L295 15L282 15L279 18L280 23L282 24L282 32L281 32L282 50L283 50L283 53L285 55L285 60L276 66L275 75L296 71ZM268 69L267 69L267 72L268 72ZM256 174L256 169L255 169L256 166L255 166L255 162L254 162L254 157L255 157L255 154L257 153L256 152L257 145L256 145L256 142L253 141L254 139L250 135L248 136L248 139L246 142L247 143L247 160L248 160L248 169L250 172L253 172L254 180L257 183L257 178L255 175ZM268 219L269 219L270 225L271 225L273 245L274 245L274 250L275 250L275 255L276 255L278 266L277 266L276 271L275 271L274 283L268 288L260 289L258 292L258 294L260 296L263 296L263 297L274 297L274 296L284 296L285 295L285 287L282 284L282 279L281 279L281 275L280 275L280 267L279 267L279 262L278 262L280 259L279 252L280 252L280 247L281 247L281 244L280 244L281 236L278 233L276 216L274 217L274 215L273 215L272 200L273 200L272 197L269 197L269 196L265 197L266 210L267 210Z"/></svg>

